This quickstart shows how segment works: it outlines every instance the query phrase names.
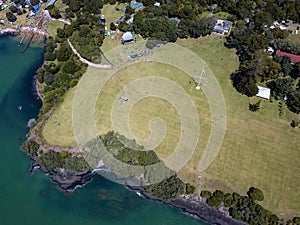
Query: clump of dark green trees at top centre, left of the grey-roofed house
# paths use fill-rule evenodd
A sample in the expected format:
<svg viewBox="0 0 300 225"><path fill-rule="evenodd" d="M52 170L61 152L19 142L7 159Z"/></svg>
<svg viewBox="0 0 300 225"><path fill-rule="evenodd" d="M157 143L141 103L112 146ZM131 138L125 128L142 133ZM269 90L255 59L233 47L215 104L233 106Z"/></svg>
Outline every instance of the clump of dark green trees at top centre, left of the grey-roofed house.
<svg viewBox="0 0 300 225"><path fill-rule="evenodd" d="M177 38L197 38L210 34L215 22L202 17L202 1L167 1L161 7L142 1L146 8L134 16L133 30L144 38L175 42ZM203 7L204 6L204 7Z"/></svg>

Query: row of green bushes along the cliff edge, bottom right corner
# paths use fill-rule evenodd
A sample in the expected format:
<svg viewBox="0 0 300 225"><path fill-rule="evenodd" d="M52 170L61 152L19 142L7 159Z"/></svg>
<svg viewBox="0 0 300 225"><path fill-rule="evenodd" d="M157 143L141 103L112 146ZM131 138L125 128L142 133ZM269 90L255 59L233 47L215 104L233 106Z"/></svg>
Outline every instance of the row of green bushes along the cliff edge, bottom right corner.
<svg viewBox="0 0 300 225"><path fill-rule="evenodd" d="M225 207L229 208L230 216L249 225L300 224L299 217L283 221L280 220L277 215L258 204L258 201L264 200L264 195L263 192L256 187L250 187L247 196L241 196L237 193L224 194L220 190L216 190L213 193L201 191L200 195L206 198L207 204L211 207L219 207L223 203Z"/></svg>

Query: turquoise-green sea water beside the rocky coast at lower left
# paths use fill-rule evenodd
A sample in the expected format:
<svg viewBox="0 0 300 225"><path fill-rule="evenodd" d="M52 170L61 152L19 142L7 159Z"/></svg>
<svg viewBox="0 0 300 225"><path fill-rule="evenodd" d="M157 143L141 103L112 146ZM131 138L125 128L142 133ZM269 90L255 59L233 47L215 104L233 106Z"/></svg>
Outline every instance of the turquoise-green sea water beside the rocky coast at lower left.
<svg viewBox="0 0 300 225"><path fill-rule="evenodd" d="M1 225L205 224L101 177L70 194L59 191L39 171L29 175L30 160L19 146L28 131L27 121L40 107L33 95L33 74L42 63L43 49L20 52L10 36L0 37Z"/></svg>

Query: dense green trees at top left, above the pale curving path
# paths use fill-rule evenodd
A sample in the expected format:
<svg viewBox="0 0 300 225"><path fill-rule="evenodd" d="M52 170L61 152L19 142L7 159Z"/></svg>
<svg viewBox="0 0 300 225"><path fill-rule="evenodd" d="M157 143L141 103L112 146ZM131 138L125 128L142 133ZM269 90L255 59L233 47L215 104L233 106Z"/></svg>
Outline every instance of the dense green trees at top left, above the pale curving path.
<svg viewBox="0 0 300 225"><path fill-rule="evenodd" d="M64 0L67 5L64 16L71 20L70 25L57 30L59 39L69 38L80 55L94 63L101 62L100 46L104 39L104 25L100 23L103 1L97 0ZM61 17L55 6L48 8L54 18Z"/></svg>

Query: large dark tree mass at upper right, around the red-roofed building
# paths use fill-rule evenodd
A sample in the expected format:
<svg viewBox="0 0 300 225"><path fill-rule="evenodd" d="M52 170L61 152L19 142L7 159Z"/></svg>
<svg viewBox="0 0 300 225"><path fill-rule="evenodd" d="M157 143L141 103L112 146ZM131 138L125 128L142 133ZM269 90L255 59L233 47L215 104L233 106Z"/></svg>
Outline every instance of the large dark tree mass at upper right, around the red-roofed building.
<svg viewBox="0 0 300 225"><path fill-rule="evenodd" d="M240 3L244 7L240 10L223 9L240 19L226 43L228 47L237 49L240 59L238 70L231 76L233 86L242 94L254 96L258 92L257 83L266 83L276 99L285 100L292 112L299 113L299 63L292 65L290 58L275 55L276 50L299 54L299 46L284 40L289 35L286 30L269 27L274 21L299 21L300 3L273 0L261 3L244 1ZM294 8L289 11L292 5ZM246 18L249 22L245 21ZM274 57L265 52L268 46L275 49Z"/></svg>

